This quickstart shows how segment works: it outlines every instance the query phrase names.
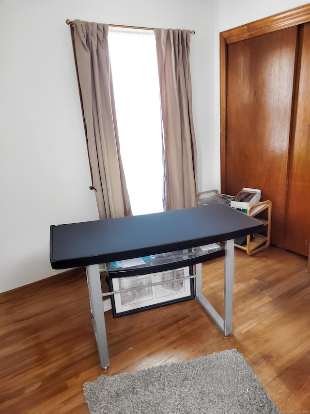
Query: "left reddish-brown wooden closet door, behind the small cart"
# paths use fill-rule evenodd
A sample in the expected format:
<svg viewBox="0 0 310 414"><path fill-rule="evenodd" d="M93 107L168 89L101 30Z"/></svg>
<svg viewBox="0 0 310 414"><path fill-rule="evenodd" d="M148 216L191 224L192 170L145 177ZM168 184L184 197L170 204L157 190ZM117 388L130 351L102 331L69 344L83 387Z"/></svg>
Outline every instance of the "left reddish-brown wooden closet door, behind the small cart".
<svg viewBox="0 0 310 414"><path fill-rule="evenodd" d="M296 27L228 45L226 194L259 188L272 201L271 242L283 243Z"/></svg>

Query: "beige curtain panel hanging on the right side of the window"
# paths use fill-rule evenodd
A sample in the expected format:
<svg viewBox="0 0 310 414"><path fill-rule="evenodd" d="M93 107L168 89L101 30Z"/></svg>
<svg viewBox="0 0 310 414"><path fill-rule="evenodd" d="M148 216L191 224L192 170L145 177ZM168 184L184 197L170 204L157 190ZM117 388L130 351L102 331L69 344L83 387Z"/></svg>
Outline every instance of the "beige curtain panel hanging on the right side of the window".
<svg viewBox="0 0 310 414"><path fill-rule="evenodd" d="M197 205L190 36L189 30L155 29L164 129L166 210Z"/></svg>

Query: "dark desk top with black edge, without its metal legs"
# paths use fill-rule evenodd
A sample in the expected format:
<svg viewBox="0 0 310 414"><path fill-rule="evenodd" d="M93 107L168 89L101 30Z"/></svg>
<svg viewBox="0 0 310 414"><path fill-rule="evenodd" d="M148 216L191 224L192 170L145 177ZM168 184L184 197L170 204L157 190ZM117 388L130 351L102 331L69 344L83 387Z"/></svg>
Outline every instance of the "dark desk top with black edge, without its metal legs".
<svg viewBox="0 0 310 414"><path fill-rule="evenodd" d="M262 232L263 223L224 204L50 226L53 269L133 259Z"/></svg>

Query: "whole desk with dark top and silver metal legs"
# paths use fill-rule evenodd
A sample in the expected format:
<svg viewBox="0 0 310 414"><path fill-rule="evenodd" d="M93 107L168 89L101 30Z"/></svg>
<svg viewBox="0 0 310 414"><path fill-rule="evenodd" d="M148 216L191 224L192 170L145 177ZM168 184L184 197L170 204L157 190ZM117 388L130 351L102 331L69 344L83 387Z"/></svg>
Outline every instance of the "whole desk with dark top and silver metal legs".
<svg viewBox="0 0 310 414"><path fill-rule="evenodd" d="M263 231L263 223L223 204L107 220L50 226L53 269L86 266L100 364L109 351L99 264L225 242L224 317L202 295L202 265L196 265L196 298L224 335L233 332L234 238ZM203 259L202 259L203 261Z"/></svg>

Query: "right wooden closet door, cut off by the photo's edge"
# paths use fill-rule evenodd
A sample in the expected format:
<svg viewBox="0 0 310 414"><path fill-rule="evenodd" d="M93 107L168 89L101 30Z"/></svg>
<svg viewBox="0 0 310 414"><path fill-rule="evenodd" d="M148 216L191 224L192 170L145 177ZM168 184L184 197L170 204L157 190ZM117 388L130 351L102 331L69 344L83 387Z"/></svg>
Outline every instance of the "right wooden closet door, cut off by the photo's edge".
<svg viewBox="0 0 310 414"><path fill-rule="evenodd" d="M310 23L301 27L284 248L308 256L310 239Z"/></svg>

